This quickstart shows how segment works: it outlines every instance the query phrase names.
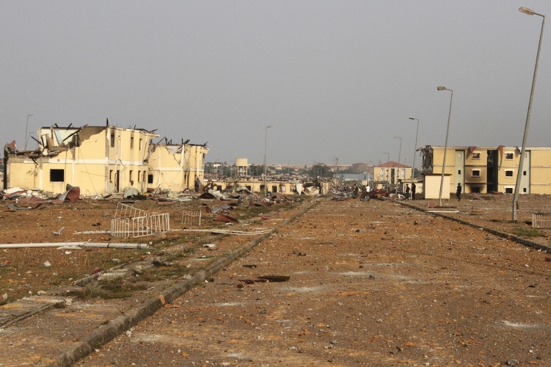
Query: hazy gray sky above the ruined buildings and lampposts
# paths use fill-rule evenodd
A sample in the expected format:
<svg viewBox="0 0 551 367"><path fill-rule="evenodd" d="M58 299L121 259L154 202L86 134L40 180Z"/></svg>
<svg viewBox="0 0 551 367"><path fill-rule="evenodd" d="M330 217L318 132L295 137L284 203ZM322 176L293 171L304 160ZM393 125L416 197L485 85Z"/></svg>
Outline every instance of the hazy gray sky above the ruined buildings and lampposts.
<svg viewBox="0 0 551 367"><path fill-rule="evenodd" d="M0 127L137 125L207 161L413 162L420 145L521 145L551 1L9 1ZM528 145L550 146L551 25ZM30 147L35 147L29 143ZM419 162L419 160L417 160Z"/></svg>

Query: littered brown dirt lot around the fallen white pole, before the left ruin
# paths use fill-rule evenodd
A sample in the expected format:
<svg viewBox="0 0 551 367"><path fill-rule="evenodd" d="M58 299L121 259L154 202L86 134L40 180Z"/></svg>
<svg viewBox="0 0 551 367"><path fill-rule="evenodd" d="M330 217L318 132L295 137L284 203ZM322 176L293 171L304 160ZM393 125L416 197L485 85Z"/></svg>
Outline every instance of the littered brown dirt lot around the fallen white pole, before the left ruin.
<svg viewBox="0 0 551 367"><path fill-rule="evenodd" d="M194 200L186 207L202 207L202 204L220 206L220 201ZM134 238L112 238L109 234L75 234L82 231L101 231L110 229L110 218L117 207L115 200L79 200L65 202L63 205L42 205L38 209L11 211L3 205L0 213L0 243L38 243L38 242L138 242L150 244L156 250L176 244L196 247L200 238L207 233L171 231L163 238L153 236ZM154 213L170 213L171 229L195 229L182 224L179 204L159 205L153 200L138 200L134 207ZM229 214L234 218L256 218L260 215L278 220L280 211L292 210L289 205L271 207L238 207ZM288 215L288 214L287 214ZM249 224L231 224L212 222L212 215L204 216L202 227L248 230L260 227ZM264 223L267 224L267 223ZM271 226L272 224L267 224ZM65 227L61 235L53 235ZM59 250L57 247L33 249L0 249L0 305L13 302L21 297L34 295L38 291L48 291L59 286L69 286L74 280L81 279L98 270L107 270L112 266L124 264L148 256L154 250L132 249L81 249ZM50 266L43 266L45 262ZM2 297L6 295L6 297Z"/></svg>

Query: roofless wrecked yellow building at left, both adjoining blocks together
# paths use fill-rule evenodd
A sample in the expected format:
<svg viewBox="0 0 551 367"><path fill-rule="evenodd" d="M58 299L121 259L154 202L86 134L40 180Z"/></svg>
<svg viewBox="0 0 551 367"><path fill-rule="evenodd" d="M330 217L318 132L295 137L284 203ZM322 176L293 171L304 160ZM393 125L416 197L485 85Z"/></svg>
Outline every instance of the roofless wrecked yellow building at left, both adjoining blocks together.
<svg viewBox="0 0 551 367"><path fill-rule="evenodd" d="M4 147L3 186L4 189L39 188L56 193L64 192L69 184L79 186L84 195L93 195L118 193L128 187L142 192L173 188L182 191L194 186L196 176L202 181L207 147L182 144L180 150L187 154L176 157L177 153L171 154L174 149L167 145L153 144L158 136L145 129L111 125L42 127L38 149L17 151L14 144ZM162 151L167 151L164 160ZM196 159L197 151L202 154L201 159ZM176 160L181 167L180 176L163 179L159 173L174 169ZM161 177L157 181L156 174ZM193 176L191 183L189 176ZM173 185L179 177L179 185Z"/></svg>

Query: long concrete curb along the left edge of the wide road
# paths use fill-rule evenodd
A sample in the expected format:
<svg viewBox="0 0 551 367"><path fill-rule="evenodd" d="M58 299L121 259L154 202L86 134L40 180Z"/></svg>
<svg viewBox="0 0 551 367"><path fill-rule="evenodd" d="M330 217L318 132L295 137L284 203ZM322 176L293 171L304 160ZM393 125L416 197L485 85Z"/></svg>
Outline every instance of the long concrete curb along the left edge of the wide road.
<svg viewBox="0 0 551 367"><path fill-rule="evenodd" d="M292 222L319 203L319 201L316 201L313 205L302 209L302 211L297 213L295 216L289 218L289 220L284 220L283 223L287 224ZM117 337L117 335L124 333L129 328L132 328L132 326L138 324L138 322L141 322L143 319L154 315L158 310L160 310L160 308L165 306L165 303L176 300L176 298L194 288L194 286L204 283L209 277L225 268L225 266L228 266L231 262L240 258L245 253L251 251L251 249L258 246L258 244L266 238L269 238L274 231L275 230L272 229L269 233L260 235L248 244L244 244L242 247L228 253L223 258L218 259L214 262L214 264L211 264L208 269L198 271L190 280L183 280L174 284L168 289L165 289L165 291L159 293L157 297L146 300L143 304L137 306L136 308L132 308L123 315L110 320L107 324L105 324L105 326L96 328L96 330L92 333L85 335L76 345L61 353L61 355L56 358L52 366L70 367L75 364L76 361L79 361L79 359L87 357L87 355L94 352L96 348L101 348L101 346L111 342L115 337Z"/></svg>

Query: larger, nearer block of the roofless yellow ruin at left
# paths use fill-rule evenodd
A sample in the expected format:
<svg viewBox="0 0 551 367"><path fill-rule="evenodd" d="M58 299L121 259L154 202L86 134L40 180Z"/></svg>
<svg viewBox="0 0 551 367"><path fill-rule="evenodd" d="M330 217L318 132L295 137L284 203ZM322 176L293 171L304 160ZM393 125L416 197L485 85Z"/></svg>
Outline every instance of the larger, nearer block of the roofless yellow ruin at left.
<svg viewBox="0 0 551 367"><path fill-rule="evenodd" d="M113 193L125 187L147 189L144 159L148 156L149 139L157 134L112 126L59 128L59 132L56 129L39 129L40 140L49 149L25 153L27 156L8 156L8 187L63 192L65 185L70 184L81 187L83 194ZM77 134L71 137L74 132ZM65 145L60 147L59 141L63 140ZM71 145L66 143L68 140Z"/></svg>

